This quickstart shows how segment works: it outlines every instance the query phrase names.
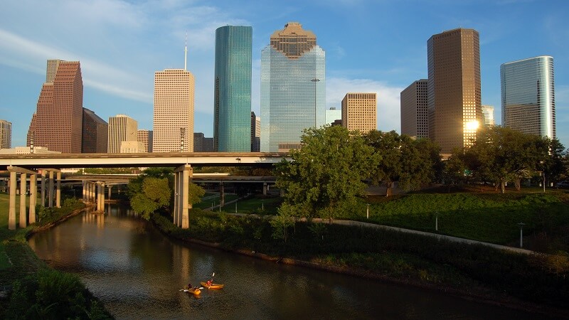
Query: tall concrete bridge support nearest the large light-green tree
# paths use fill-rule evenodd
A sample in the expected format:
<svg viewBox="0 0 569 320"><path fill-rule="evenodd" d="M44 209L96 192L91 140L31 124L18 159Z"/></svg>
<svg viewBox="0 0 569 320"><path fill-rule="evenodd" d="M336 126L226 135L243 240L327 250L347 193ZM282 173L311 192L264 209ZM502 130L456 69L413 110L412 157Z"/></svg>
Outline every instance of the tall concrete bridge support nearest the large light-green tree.
<svg viewBox="0 0 569 320"><path fill-rule="evenodd" d="M179 166L174 170L174 223L182 229L190 228L188 210L189 205L189 183L193 169L189 164Z"/></svg>

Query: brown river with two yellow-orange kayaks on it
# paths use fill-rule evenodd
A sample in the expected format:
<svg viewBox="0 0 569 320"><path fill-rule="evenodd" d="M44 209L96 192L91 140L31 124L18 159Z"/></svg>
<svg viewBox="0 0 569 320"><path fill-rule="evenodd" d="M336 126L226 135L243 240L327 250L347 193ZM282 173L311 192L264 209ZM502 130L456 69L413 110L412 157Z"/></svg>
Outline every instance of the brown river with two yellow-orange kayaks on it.
<svg viewBox="0 0 569 320"><path fill-rule="evenodd" d="M82 213L33 235L117 319L536 319L431 290L276 264L170 240L124 207ZM223 289L180 292L213 277ZM543 319L543 316L540 316Z"/></svg>

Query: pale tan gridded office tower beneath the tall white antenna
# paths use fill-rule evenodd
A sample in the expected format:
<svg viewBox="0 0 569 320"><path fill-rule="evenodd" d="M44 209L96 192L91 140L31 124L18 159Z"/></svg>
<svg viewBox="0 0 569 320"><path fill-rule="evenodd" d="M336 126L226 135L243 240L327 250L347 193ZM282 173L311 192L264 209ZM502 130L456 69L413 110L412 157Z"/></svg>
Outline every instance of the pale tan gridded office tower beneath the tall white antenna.
<svg viewBox="0 0 569 320"><path fill-rule="evenodd" d="M154 73L153 152L193 152L193 97L189 71Z"/></svg>

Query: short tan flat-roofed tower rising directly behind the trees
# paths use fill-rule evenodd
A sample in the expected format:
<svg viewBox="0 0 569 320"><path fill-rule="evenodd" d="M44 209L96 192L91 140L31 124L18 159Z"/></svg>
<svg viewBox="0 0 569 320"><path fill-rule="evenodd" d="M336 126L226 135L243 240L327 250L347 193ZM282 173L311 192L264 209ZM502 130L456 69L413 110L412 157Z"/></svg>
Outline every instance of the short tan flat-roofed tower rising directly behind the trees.
<svg viewBox="0 0 569 320"><path fill-rule="evenodd" d="M342 126L366 134L378 129L376 93L346 93L342 99Z"/></svg>

